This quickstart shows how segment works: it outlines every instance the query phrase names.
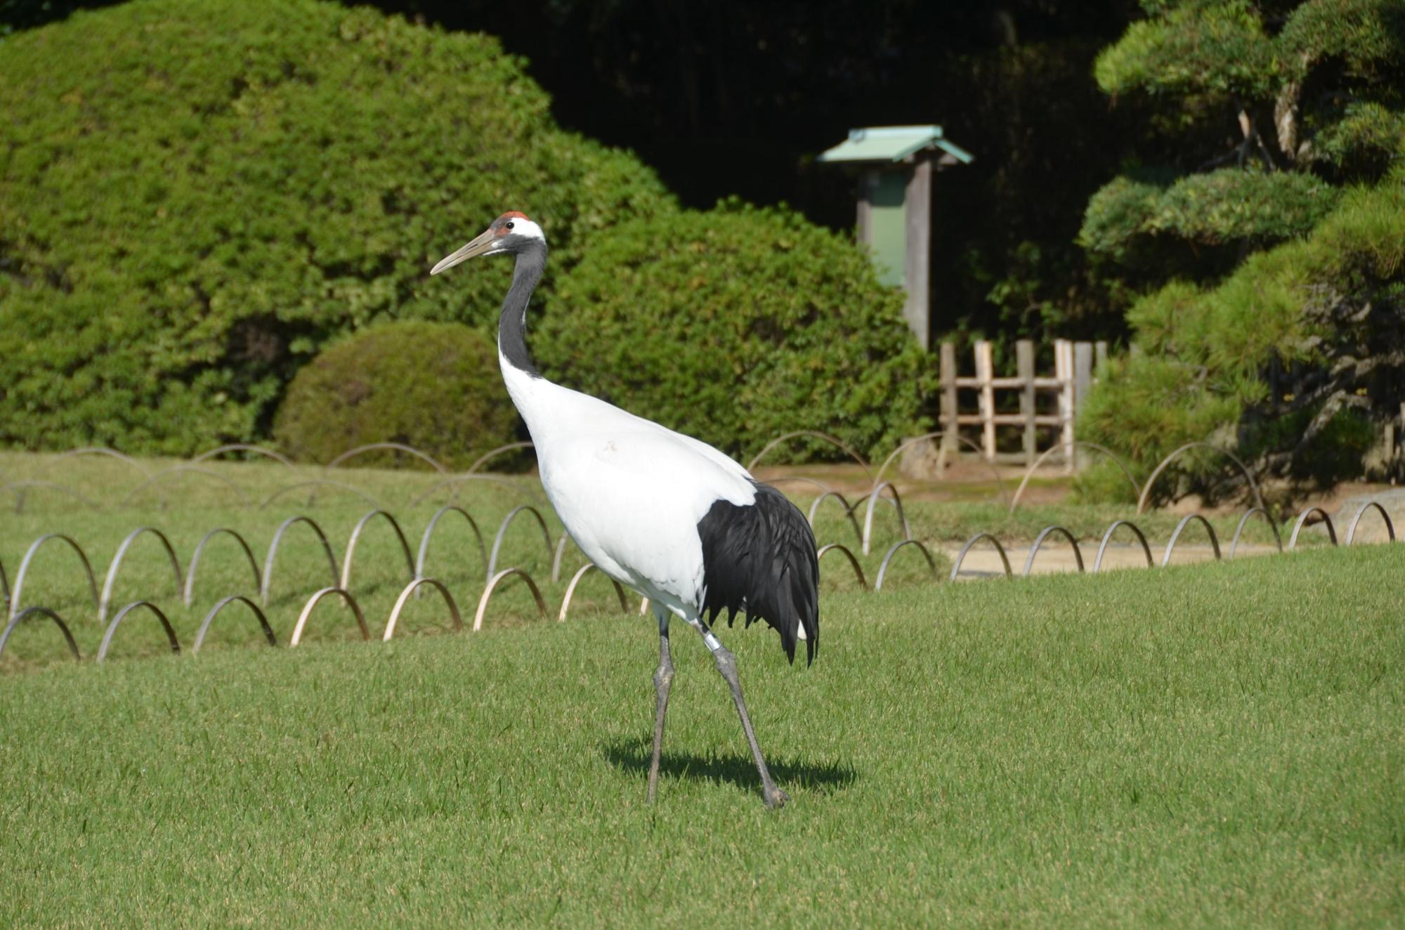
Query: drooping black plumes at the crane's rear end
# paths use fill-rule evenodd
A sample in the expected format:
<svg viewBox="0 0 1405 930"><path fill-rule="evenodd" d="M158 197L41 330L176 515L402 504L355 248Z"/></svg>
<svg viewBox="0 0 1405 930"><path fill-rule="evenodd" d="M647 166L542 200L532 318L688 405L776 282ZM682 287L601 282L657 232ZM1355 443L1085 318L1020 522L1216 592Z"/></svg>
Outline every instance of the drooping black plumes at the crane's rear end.
<svg viewBox="0 0 1405 930"><path fill-rule="evenodd" d="M805 660L819 649L819 559L805 516L770 485L752 482L756 502L718 500L698 521L702 539L702 615L708 622L738 611L746 625L764 620L781 635L785 657L805 631Z"/></svg>

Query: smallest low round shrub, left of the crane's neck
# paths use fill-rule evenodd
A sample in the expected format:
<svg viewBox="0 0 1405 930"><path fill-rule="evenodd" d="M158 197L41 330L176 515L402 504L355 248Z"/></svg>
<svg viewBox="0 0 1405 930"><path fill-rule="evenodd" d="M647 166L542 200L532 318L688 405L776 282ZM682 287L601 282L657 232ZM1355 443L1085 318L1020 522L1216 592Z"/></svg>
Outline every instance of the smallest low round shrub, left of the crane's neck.
<svg viewBox="0 0 1405 930"><path fill-rule="evenodd" d="M413 445L450 468L516 438L497 348L458 323L378 326L332 346L302 368L278 409L274 435L294 458L329 462L371 443ZM355 465L420 465L377 451Z"/></svg>

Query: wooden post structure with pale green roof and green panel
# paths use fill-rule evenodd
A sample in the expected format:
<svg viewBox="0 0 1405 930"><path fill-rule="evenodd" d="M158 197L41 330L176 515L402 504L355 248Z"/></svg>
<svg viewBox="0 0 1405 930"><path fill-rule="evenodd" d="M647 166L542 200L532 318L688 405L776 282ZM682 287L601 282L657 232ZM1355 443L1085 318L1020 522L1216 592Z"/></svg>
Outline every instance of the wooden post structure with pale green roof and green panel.
<svg viewBox="0 0 1405 930"><path fill-rule="evenodd" d="M927 348L932 173L969 164L974 156L950 142L941 126L868 126L850 129L847 139L818 160L863 167L858 242L870 247L878 280L908 291L903 316Z"/></svg>

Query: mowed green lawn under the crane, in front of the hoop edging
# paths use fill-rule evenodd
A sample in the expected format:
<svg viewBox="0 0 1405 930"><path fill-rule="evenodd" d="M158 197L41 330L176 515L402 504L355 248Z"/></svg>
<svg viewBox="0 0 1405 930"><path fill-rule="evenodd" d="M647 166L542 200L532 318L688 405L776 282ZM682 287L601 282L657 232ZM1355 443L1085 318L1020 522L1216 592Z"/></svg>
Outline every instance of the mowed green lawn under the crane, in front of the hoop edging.
<svg viewBox="0 0 1405 930"><path fill-rule="evenodd" d="M1405 548L0 677L0 923L1398 924Z"/></svg>

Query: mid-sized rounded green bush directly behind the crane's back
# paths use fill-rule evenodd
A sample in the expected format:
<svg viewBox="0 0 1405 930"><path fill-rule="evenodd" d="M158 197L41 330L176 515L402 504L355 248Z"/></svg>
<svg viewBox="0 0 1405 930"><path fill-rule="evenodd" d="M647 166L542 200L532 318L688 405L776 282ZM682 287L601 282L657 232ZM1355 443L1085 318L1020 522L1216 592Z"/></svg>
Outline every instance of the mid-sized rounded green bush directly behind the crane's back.
<svg viewBox="0 0 1405 930"><path fill-rule="evenodd" d="M731 204L599 240L558 278L532 347L548 376L733 454L809 428L875 455L930 388L901 308L839 236Z"/></svg>

